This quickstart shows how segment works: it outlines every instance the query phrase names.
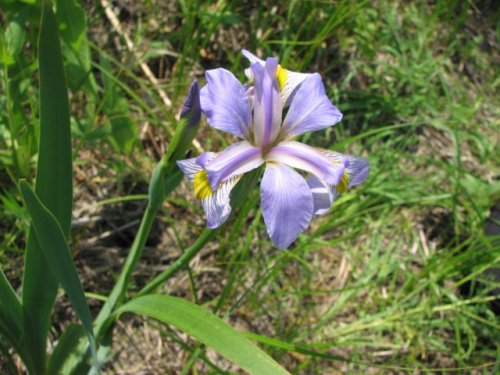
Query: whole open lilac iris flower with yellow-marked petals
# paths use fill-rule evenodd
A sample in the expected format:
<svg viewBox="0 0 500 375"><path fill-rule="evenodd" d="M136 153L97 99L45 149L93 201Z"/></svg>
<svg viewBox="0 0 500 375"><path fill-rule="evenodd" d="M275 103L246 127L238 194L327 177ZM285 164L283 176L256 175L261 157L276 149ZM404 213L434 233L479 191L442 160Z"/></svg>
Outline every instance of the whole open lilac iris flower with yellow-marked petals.
<svg viewBox="0 0 500 375"><path fill-rule="evenodd" d="M208 124L240 141L220 153L207 152L177 164L193 184L209 228L227 220L231 189L241 176L265 165L260 184L264 221L274 245L284 249L314 215L330 209L339 193L366 179L368 162L294 140L342 118L319 74L291 72L276 58L264 61L243 53L250 60L247 76L253 86L242 85L219 68L206 72L207 84L200 91Z"/></svg>

